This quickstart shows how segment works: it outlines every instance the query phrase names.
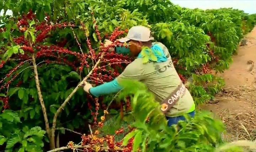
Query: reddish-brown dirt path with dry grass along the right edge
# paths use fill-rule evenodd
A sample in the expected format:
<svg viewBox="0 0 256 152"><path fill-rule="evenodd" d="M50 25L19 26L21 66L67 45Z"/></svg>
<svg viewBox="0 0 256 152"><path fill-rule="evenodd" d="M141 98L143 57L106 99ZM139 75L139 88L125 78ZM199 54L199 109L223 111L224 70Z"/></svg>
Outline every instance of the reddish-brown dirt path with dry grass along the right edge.
<svg viewBox="0 0 256 152"><path fill-rule="evenodd" d="M218 74L226 83L223 92L200 106L220 116L228 132L235 134L232 140L256 139L256 27L245 39L247 45L239 46L230 68Z"/></svg>

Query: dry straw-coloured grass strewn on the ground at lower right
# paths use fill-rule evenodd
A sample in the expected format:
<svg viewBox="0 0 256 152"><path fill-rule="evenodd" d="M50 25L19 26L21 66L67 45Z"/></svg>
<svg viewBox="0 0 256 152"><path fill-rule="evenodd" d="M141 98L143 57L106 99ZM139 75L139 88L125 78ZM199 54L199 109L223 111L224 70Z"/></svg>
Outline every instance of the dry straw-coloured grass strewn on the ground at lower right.
<svg viewBox="0 0 256 152"><path fill-rule="evenodd" d="M256 86L226 88L215 100L232 100L247 106L244 110L225 109L219 112L226 125L223 141L256 140Z"/></svg>

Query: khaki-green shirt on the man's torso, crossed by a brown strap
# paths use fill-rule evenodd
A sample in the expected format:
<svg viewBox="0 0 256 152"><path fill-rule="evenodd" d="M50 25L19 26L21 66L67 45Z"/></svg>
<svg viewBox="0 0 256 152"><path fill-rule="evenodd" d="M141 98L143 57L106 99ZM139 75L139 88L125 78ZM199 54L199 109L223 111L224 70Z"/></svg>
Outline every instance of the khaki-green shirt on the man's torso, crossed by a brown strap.
<svg viewBox="0 0 256 152"><path fill-rule="evenodd" d="M139 80L146 84L149 91L155 95L156 101L162 102L172 91L174 91L181 83L168 49L159 42L158 44L163 50L167 58L166 62L148 62L143 63L142 58L135 59L126 69L119 75L117 82L123 79ZM165 113L168 117L180 116L184 113L194 110L194 101L188 90L178 102Z"/></svg>

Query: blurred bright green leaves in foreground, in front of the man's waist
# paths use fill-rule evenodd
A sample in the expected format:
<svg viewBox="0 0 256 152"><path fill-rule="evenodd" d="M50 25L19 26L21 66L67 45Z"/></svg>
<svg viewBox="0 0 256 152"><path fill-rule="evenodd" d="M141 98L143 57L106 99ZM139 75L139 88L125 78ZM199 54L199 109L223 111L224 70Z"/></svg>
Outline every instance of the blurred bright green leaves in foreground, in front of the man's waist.
<svg viewBox="0 0 256 152"><path fill-rule="evenodd" d="M197 111L194 118L185 115L186 121L168 127L160 104L155 102L143 83L125 80L121 85L125 88L119 98L123 99L126 95L131 97L132 115L135 118L132 127L136 128L126 135L123 145L127 145L132 137L133 151L139 147L143 152L204 152L214 151L217 145L221 145L223 124L213 119L210 113ZM149 122L146 122L147 117L150 117Z"/></svg>

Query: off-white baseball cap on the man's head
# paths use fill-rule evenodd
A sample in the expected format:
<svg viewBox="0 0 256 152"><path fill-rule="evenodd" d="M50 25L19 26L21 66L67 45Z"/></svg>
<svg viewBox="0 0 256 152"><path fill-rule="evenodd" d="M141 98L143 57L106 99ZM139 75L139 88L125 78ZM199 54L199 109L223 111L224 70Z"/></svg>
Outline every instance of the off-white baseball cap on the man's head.
<svg viewBox="0 0 256 152"><path fill-rule="evenodd" d="M150 40L154 40L154 37L150 37L150 29L144 26L134 26L129 29L126 37L119 39L119 42L127 42L129 40L142 41L147 42Z"/></svg>

